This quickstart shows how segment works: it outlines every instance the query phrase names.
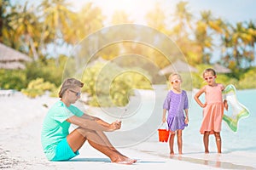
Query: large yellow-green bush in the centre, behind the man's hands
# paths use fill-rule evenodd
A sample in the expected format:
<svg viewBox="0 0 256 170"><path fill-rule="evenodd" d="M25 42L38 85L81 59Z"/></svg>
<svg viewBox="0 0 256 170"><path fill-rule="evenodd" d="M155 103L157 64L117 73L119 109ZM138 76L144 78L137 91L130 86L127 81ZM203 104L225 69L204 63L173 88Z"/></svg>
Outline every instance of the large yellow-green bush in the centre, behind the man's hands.
<svg viewBox="0 0 256 170"><path fill-rule="evenodd" d="M145 72L145 71L144 71ZM143 71L125 71L115 64L97 63L84 71L83 91L90 94L89 105L124 106L132 88L150 89L151 77Z"/></svg>

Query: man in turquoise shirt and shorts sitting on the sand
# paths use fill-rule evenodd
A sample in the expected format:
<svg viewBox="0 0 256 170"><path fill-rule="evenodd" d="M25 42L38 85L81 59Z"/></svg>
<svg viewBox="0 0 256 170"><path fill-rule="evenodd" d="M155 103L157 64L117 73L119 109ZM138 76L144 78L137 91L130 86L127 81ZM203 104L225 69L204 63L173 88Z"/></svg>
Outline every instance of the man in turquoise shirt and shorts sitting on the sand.
<svg viewBox="0 0 256 170"><path fill-rule="evenodd" d="M96 150L108 156L112 162L132 164L136 162L116 150L103 131L114 131L121 127L121 122L108 122L89 116L72 105L79 98L84 83L69 78L63 82L59 92L59 101L49 109L44 118L41 141L44 153L49 161L67 161L79 155L79 149L88 140ZM68 129L73 123L77 125L72 133Z"/></svg>

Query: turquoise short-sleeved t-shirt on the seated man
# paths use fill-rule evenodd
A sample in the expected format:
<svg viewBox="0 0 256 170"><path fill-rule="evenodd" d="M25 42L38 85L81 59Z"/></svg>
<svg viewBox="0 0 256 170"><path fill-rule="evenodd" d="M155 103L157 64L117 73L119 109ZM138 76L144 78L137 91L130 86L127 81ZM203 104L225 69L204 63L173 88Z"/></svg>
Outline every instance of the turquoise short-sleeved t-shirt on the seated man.
<svg viewBox="0 0 256 170"><path fill-rule="evenodd" d="M83 111L80 111L74 105L67 107L61 100L53 105L44 118L44 123L41 132L41 142L44 153L49 160L55 157L55 148L62 139L65 139L69 134L68 129L70 122L66 120L71 116L82 116Z"/></svg>

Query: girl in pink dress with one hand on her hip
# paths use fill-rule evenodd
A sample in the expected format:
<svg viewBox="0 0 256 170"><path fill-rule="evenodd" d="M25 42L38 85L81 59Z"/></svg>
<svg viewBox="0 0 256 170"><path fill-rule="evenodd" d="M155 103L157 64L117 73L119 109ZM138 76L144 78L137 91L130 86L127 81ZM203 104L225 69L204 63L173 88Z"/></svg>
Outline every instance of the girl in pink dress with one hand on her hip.
<svg viewBox="0 0 256 170"><path fill-rule="evenodd" d="M201 123L200 133L204 134L203 141L205 146L205 153L209 153L209 135L214 134L216 139L216 145L218 153L221 153L221 122L224 115L224 108L228 110L227 101L222 99L222 91L224 86L220 83L216 83L216 71L209 68L203 72L203 78L207 82L207 85L201 88L195 94L195 101L203 108L203 120ZM201 103L199 97L201 94L205 94L206 102Z"/></svg>

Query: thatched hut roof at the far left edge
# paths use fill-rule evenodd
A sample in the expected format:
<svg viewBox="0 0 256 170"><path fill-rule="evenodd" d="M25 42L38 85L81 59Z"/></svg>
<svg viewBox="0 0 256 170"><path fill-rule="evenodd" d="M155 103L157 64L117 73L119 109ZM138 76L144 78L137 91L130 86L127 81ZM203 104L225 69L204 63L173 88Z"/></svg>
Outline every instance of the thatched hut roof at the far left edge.
<svg viewBox="0 0 256 170"><path fill-rule="evenodd" d="M13 48L0 43L0 69L25 69L25 62L31 62L32 59L26 54L22 54Z"/></svg>

